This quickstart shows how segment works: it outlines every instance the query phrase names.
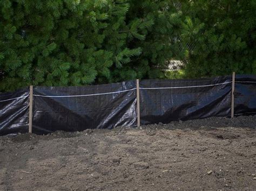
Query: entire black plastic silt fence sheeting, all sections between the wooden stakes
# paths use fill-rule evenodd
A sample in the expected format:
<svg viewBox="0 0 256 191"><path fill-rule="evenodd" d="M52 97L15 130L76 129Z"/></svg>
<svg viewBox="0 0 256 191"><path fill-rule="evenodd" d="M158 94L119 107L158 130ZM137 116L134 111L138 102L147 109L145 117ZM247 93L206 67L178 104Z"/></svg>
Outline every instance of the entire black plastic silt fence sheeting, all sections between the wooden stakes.
<svg viewBox="0 0 256 191"><path fill-rule="evenodd" d="M140 81L141 124L231 116L232 76ZM234 114L256 114L256 76L236 75ZM136 81L34 87L32 132L137 125ZM29 88L0 94L0 135L28 132Z"/></svg>

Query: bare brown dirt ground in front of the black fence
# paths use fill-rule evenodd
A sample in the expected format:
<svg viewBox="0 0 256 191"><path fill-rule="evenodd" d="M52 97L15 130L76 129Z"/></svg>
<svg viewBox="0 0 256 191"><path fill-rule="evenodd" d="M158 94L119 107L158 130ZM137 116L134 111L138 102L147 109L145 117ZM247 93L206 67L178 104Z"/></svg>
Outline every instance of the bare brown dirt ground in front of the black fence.
<svg viewBox="0 0 256 191"><path fill-rule="evenodd" d="M0 190L256 190L256 116L0 137Z"/></svg>

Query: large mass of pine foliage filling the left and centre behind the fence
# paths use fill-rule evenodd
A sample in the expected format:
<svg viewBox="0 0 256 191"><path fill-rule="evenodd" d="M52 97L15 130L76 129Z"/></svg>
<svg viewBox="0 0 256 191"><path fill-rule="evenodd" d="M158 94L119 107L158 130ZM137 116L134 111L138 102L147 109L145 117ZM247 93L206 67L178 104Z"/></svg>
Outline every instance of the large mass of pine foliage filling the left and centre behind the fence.
<svg viewBox="0 0 256 191"><path fill-rule="evenodd" d="M179 53L170 1L2 0L0 8L0 91L159 77Z"/></svg>

